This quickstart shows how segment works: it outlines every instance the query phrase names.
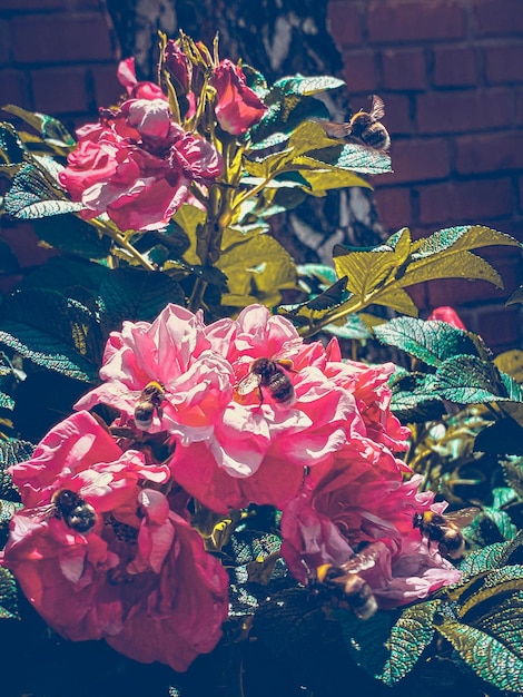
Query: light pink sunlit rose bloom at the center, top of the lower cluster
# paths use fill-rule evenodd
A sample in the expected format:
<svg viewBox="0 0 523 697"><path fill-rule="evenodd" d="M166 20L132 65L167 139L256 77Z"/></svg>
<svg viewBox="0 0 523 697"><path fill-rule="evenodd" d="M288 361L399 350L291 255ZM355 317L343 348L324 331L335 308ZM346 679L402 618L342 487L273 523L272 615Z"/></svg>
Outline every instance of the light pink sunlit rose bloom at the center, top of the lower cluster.
<svg viewBox="0 0 523 697"><path fill-rule="evenodd" d="M259 305L209 326L200 312L169 305L152 324L126 322L111 334L105 382L76 408L108 404L132 428L144 389L160 383L164 399L147 430L175 439L169 465L176 481L214 511L282 505L298 491L304 467L335 452L357 416L353 395L314 364L322 354L319 343L304 344L290 322ZM286 375L279 369L294 393L289 403L256 384L239 393L259 357L294 365Z"/></svg>

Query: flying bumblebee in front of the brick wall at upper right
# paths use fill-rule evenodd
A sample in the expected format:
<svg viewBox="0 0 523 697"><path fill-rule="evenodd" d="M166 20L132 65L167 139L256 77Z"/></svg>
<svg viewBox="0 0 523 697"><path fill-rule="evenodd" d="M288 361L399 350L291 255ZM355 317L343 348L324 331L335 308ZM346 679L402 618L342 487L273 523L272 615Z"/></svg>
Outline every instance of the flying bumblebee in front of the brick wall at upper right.
<svg viewBox="0 0 523 697"><path fill-rule="evenodd" d="M391 136L381 119L385 116L385 104L381 97L373 95L371 111L361 109L345 124L316 120L329 138L357 138L364 145L378 151L388 150Z"/></svg>

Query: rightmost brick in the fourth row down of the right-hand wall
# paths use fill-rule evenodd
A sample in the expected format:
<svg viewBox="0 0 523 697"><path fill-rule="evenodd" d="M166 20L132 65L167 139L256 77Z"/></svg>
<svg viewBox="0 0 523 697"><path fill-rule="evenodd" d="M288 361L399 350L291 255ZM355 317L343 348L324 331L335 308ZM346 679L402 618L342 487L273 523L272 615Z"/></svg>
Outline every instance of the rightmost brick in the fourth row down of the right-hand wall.
<svg viewBox="0 0 523 697"><path fill-rule="evenodd" d="M456 169L480 174L523 168L523 131L502 131L456 138Z"/></svg>

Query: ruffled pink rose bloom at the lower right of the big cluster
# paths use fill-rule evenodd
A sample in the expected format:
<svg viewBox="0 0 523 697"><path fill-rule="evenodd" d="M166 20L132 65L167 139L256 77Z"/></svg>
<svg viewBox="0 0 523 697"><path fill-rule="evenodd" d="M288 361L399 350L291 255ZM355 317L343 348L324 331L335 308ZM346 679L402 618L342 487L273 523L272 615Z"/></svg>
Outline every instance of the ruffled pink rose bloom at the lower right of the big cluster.
<svg viewBox="0 0 523 697"><path fill-rule="evenodd" d="M416 512L444 504L434 504L432 492L417 492L420 475L403 481L408 471L367 438L354 438L329 463L314 468L282 519L282 553L293 576L305 583L322 565L339 567L369 546L376 558L358 576L381 608L457 582L460 571L434 546L428 549L413 526Z"/></svg>

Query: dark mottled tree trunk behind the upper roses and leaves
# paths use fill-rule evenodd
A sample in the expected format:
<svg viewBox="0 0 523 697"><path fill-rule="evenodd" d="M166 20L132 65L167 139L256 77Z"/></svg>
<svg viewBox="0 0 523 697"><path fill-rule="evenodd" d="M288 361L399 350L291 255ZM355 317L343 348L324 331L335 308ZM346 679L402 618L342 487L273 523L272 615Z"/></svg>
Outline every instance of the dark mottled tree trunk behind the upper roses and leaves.
<svg viewBox="0 0 523 697"><path fill-rule="evenodd" d="M154 79L157 32L179 29L211 45L219 33L221 58L251 65L270 85L286 75L341 77L342 58L328 31L327 2L317 0L105 0L124 57L134 56L141 79ZM334 120L348 106L345 90L326 95ZM333 96L334 95L334 96ZM351 187L308 197L296 210L273 218L273 234L297 263L332 262L335 244L382 242L372 194Z"/></svg>

